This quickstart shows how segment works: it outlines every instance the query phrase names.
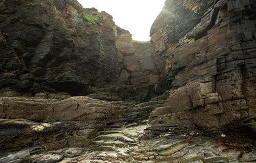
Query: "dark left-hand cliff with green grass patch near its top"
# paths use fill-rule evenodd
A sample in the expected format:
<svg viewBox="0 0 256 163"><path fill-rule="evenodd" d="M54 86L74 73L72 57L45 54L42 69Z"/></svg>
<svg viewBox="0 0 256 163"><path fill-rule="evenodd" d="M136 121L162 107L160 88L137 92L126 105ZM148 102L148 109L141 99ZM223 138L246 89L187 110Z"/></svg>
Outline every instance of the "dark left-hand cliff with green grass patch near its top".
<svg viewBox="0 0 256 163"><path fill-rule="evenodd" d="M98 92L109 83L117 87L120 81L124 86L115 96L123 92L125 99L140 94L135 89L143 84L130 82L135 76L128 75L127 81L122 81L125 73L144 71L126 70L126 56L135 55L131 35L116 26L109 14L83 10L77 1L8 0L0 3L0 18L3 93L16 90L79 95ZM139 58L134 58L136 66ZM140 96L147 96L147 92Z"/></svg>

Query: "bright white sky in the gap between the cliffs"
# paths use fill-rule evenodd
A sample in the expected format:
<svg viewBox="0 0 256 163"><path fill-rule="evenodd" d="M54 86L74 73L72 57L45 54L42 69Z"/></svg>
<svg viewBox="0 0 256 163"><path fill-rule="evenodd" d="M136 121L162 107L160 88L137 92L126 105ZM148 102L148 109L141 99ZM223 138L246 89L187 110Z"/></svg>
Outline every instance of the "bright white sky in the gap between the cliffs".
<svg viewBox="0 0 256 163"><path fill-rule="evenodd" d="M115 24L130 31L132 39L150 40L150 28L165 0L78 0L84 8L95 7L113 16Z"/></svg>

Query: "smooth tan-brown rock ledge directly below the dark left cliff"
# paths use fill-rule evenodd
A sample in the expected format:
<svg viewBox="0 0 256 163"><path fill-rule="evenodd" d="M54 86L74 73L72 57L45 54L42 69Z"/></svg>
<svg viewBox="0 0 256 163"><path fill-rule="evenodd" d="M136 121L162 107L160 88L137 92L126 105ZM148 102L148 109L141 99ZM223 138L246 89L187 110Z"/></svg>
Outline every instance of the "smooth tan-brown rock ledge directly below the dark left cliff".
<svg viewBox="0 0 256 163"><path fill-rule="evenodd" d="M0 115L7 119L27 119L35 122L83 121L123 117L129 104L122 101L107 102L74 96L65 100L37 98L8 98L0 101Z"/></svg>

